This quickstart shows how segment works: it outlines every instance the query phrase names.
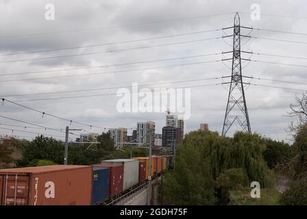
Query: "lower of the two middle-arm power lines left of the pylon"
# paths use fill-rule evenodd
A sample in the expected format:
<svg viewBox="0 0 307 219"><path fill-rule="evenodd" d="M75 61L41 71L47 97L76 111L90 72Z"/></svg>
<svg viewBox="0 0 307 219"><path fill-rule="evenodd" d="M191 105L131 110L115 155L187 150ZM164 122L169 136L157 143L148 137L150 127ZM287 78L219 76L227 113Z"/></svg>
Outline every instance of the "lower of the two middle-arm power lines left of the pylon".
<svg viewBox="0 0 307 219"><path fill-rule="evenodd" d="M184 64L173 64L169 66L153 66L149 68L134 68L134 69L127 69L127 70L112 70L109 72L101 72L101 73L89 73L89 74L79 74L79 75L63 75L63 76L54 76L54 77L36 77L36 78L27 78L27 79L9 79L9 80L1 80L0 83L3 82L12 82L12 81L35 81L41 79L58 79L58 78L65 78L65 77L81 77L81 76L90 76L90 75L106 75L106 74L114 74L114 73L125 73L130 71L138 71L138 70L152 70L152 69L159 69L159 68L172 68L175 66L190 66L190 65L197 65L197 64L206 64L206 63L214 63L214 62L221 62L222 60L212 60L212 61L204 61L204 62L190 62Z"/></svg>

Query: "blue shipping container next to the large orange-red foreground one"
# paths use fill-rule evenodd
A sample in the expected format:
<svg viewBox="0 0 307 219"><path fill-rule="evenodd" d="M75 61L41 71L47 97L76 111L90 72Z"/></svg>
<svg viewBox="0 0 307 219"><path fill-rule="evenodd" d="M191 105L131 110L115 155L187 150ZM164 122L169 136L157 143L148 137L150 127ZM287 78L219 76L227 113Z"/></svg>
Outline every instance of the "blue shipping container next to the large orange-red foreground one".
<svg viewBox="0 0 307 219"><path fill-rule="evenodd" d="M109 168L93 167L92 205L97 205L108 199L109 177Z"/></svg>

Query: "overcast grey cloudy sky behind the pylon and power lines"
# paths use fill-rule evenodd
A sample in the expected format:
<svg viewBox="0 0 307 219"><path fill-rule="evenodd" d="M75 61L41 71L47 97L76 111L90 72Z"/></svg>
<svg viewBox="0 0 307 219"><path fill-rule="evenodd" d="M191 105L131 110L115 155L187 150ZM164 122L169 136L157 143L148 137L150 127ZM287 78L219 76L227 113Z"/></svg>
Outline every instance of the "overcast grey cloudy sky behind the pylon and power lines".
<svg viewBox="0 0 307 219"><path fill-rule="evenodd" d="M47 3L54 5L54 21L45 18ZM251 19L254 3L260 6L260 19ZM208 123L211 130L221 132L229 88L227 85L203 86L222 83L221 79L195 79L231 74L230 61L213 61L231 57L231 54L223 56L220 53L232 50L232 39L221 39L221 36L232 34L232 29L225 32L217 29L231 27L235 12L240 12L241 25L245 27L307 33L307 3L304 0L0 0L0 96L42 112L99 127L134 128L138 121L153 120L156 133L161 133L165 112L119 113L116 91L119 87L131 90L130 86L136 82L139 85L158 83L145 88L191 86L191 117L186 120L186 131L198 129L199 123ZM242 29L242 33L258 37L242 39L244 51L306 57L306 35L256 29L251 32ZM218 55L207 55L212 53ZM180 57L183 58L178 59ZM307 79L306 59L246 53L242 57L282 63L243 61L243 75L301 83ZM306 90L306 85L295 83L244 80ZM174 81L186 82L164 83ZM96 88L110 89L89 91ZM76 90L87 91L65 92ZM276 140L288 139L284 129L291 119L286 114L295 94L299 93L302 91L246 86L251 130ZM70 125L73 129L84 129L81 133L104 131L47 115L42 117L38 112L8 102L0 105L0 116L55 129ZM25 131L18 127L25 124L8 118L0 117L1 134L12 134L7 129ZM230 134L236 129L239 127L234 126ZM29 128L26 131L64 138L64 133L58 131ZM13 134L35 136L18 131Z"/></svg>

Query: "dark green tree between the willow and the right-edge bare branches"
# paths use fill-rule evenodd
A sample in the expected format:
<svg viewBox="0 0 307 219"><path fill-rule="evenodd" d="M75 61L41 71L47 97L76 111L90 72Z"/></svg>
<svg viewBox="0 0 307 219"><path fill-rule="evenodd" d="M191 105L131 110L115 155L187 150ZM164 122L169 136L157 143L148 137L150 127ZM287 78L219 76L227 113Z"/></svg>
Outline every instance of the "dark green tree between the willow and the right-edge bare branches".
<svg viewBox="0 0 307 219"><path fill-rule="evenodd" d="M288 162L291 159L291 147L284 142L277 142L271 139L265 139L267 149L263 155L269 168L274 168L277 164Z"/></svg>

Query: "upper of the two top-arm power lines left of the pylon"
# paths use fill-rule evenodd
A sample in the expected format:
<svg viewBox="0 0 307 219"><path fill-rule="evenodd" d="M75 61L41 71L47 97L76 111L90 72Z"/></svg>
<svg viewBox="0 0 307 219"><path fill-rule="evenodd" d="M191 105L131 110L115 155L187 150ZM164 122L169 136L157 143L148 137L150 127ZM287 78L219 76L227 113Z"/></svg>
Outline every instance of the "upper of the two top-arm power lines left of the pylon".
<svg viewBox="0 0 307 219"><path fill-rule="evenodd" d="M185 34L172 34L172 35L167 35L167 36L158 36L158 37L153 37L153 38L143 38L143 39L137 39L137 40L125 40L125 41L119 41L119 42L108 42L108 43L103 43L103 44L90 44L90 45L84 45L84 46L65 47L65 48L59 48L59 49L24 51L24 52L19 52L19 53L6 53L6 54L0 54L0 55L1 56L4 56L4 55L23 55L23 54L29 54L29 53L46 53L46 52L51 52L51 51L62 51L62 50L69 50L69 49L103 47L103 46L111 46L111 45L114 45L114 44L123 44L123 43L129 43L129 42L140 42L140 41L146 41L146 40L158 40L158 39L163 39L163 38L173 38L173 37L177 37L177 36L188 36L188 35L193 35L193 34L203 34L203 33L208 33L208 32L212 32L212 31L219 31L219 30L221 30L221 29L208 29L208 30L204 30L204 31L195 31L195 32L190 32L190 33L185 33Z"/></svg>

